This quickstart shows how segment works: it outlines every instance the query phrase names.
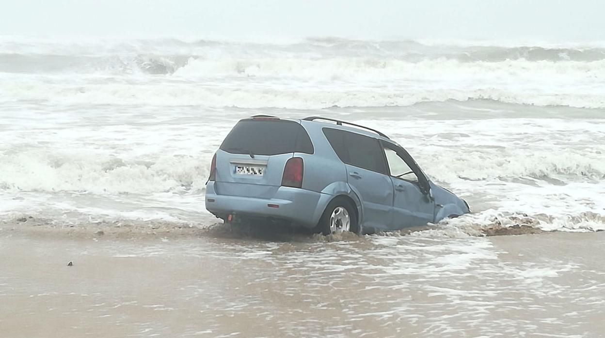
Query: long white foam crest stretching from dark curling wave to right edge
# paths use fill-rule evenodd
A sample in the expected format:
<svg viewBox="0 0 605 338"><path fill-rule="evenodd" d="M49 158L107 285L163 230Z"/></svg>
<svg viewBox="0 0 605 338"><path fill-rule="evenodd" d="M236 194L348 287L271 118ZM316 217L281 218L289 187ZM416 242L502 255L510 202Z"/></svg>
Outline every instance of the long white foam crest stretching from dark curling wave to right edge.
<svg viewBox="0 0 605 338"><path fill-rule="evenodd" d="M553 80L603 79L605 58L592 62L525 59L460 62L451 59L409 60L394 57L264 57L208 59L198 57L175 73L197 77L293 77L306 80L486 79L489 77L548 77Z"/></svg>

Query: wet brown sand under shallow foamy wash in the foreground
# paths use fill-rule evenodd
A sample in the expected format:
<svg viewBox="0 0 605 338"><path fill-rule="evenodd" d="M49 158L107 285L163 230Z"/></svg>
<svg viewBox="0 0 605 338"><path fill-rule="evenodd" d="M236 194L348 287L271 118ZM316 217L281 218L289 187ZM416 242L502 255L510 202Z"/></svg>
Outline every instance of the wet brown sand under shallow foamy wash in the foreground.
<svg viewBox="0 0 605 338"><path fill-rule="evenodd" d="M0 230L3 337L600 337L605 232ZM69 267L68 262L73 262Z"/></svg>

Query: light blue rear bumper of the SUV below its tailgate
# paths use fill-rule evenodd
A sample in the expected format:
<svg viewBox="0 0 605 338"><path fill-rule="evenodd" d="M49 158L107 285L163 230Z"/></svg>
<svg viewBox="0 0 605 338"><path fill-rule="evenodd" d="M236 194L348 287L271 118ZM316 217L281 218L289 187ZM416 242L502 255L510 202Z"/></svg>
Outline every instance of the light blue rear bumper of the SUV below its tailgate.
<svg viewBox="0 0 605 338"><path fill-rule="evenodd" d="M307 228L316 226L329 201L325 193L293 187L279 187L272 198L217 195L214 182L206 186L205 200L206 210L221 218L229 214L275 218Z"/></svg>

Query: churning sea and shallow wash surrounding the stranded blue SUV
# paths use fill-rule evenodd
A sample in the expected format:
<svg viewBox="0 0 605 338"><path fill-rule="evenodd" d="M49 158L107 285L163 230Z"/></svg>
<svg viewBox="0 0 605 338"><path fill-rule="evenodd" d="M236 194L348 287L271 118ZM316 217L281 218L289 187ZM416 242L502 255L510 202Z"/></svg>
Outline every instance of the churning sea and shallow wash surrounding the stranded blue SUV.
<svg viewBox="0 0 605 338"><path fill-rule="evenodd" d="M204 209L209 162L254 114L377 128L473 213L410 236L225 227ZM0 36L0 252L11 258L0 330L11 336L44 336L71 313L81 325L57 334L109 323L124 325L107 333L118 336L598 337L601 230L605 45ZM67 272L74 259L84 265ZM215 261L240 270L214 272ZM25 278L30 265L54 291ZM166 299L134 291L137 278ZM147 306L179 314L153 322Z"/></svg>

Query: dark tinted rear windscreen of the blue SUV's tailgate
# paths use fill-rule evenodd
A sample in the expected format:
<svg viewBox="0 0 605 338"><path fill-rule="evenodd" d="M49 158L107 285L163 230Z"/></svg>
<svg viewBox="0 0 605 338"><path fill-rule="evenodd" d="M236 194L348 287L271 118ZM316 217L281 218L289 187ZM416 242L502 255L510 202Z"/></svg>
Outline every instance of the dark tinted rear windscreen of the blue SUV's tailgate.
<svg viewBox="0 0 605 338"><path fill-rule="evenodd" d="M241 120L231 129L220 149L232 154L313 154L309 134L300 123L278 119Z"/></svg>

